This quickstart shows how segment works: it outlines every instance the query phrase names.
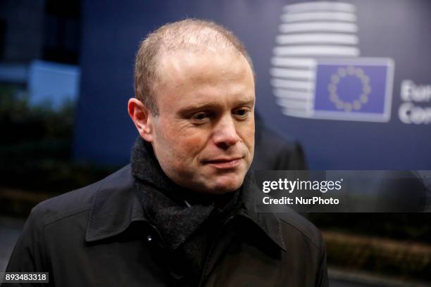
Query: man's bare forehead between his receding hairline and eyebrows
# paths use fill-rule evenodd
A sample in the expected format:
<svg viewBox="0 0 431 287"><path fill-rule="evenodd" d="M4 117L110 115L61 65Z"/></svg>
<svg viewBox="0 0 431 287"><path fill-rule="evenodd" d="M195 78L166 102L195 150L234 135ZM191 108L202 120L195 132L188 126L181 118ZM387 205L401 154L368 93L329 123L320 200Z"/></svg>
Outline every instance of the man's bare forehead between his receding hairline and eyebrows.
<svg viewBox="0 0 431 287"><path fill-rule="evenodd" d="M249 101L254 99L254 76L249 63L232 51L175 51L158 65L157 102ZM170 103L173 105L173 102ZM160 108L160 107L159 107Z"/></svg>

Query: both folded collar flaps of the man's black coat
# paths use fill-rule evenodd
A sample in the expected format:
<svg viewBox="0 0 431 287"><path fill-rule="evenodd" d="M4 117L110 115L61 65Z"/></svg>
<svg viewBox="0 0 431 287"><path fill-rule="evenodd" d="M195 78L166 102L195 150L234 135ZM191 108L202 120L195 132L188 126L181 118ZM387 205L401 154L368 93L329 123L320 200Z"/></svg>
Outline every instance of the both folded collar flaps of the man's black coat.
<svg viewBox="0 0 431 287"><path fill-rule="evenodd" d="M258 213L254 211L254 194L257 186L254 184L254 174L246 175L242 192L242 208L239 215L251 220L263 231L267 238L286 250L282 236L280 219L273 213ZM130 165L103 179L99 183L87 224L85 240L99 241L118 235L125 231L132 222L146 222L142 203L139 200L136 179L132 175Z"/></svg>

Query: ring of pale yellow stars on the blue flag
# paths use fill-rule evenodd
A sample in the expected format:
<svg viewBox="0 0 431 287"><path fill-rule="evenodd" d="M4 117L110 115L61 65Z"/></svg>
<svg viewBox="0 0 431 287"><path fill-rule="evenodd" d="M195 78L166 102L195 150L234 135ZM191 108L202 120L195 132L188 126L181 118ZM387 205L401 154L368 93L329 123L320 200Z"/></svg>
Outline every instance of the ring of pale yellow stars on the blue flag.
<svg viewBox="0 0 431 287"><path fill-rule="evenodd" d="M345 77L357 77L362 83L362 92L359 98L352 102L342 101L337 94L337 86ZM368 103L368 95L371 92L370 77L368 77L361 68L347 66L339 68L336 74L331 75L331 82L327 85L327 90L330 92L330 100L335 103L339 110L351 112L351 110L360 110L362 105Z"/></svg>

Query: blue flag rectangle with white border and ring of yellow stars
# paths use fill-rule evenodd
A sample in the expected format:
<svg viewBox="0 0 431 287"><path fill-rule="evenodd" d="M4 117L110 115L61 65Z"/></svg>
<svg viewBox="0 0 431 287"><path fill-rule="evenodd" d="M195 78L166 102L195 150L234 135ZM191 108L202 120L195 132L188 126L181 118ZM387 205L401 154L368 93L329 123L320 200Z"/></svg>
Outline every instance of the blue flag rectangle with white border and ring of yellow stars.
<svg viewBox="0 0 431 287"><path fill-rule="evenodd" d="M392 60L354 58L316 62L312 117L389 121L394 66Z"/></svg>

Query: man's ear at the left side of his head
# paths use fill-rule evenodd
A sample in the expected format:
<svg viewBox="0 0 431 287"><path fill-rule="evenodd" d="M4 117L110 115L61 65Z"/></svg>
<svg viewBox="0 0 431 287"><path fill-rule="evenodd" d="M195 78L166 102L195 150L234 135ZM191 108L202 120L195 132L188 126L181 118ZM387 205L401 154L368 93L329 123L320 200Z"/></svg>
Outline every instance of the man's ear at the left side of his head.
<svg viewBox="0 0 431 287"><path fill-rule="evenodd" d="M150 110L137 98L130 98L127 111L142 139L152 142L154 129Z"/></svg>

